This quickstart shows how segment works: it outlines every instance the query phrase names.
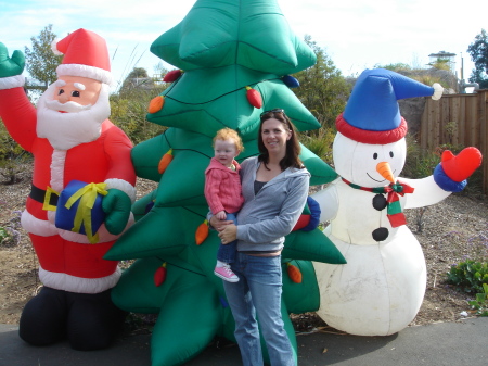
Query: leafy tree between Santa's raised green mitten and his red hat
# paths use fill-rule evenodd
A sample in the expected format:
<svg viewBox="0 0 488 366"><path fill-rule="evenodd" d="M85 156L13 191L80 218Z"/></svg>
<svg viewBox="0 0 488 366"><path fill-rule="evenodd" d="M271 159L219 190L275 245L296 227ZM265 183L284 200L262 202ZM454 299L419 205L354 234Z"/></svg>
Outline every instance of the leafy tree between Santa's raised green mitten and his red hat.
<svg viewBox="0 0 488 366"><path fill-rule="evenodd" d="M56 35L52 33L52 24L44 27L39 36L31 37L33 49L25 47L26 68L30 76L46 85L57 79L56 67L63 59L62 55L55 55L51 50L52 41Z"/></svg>

